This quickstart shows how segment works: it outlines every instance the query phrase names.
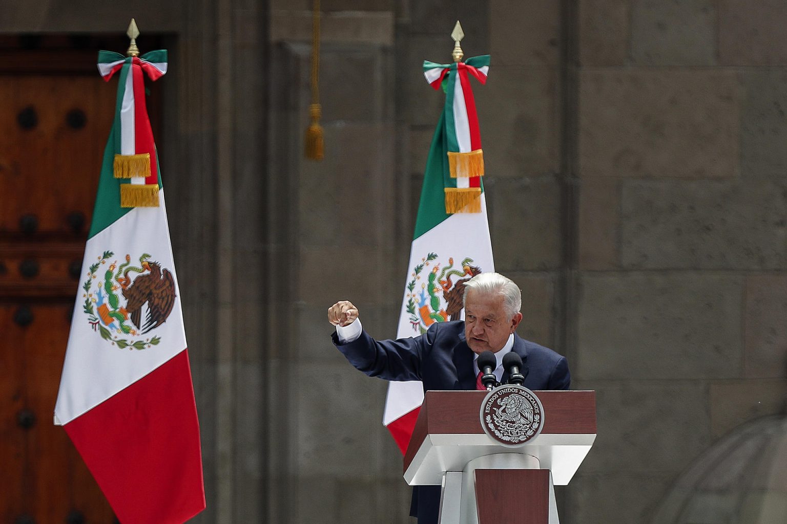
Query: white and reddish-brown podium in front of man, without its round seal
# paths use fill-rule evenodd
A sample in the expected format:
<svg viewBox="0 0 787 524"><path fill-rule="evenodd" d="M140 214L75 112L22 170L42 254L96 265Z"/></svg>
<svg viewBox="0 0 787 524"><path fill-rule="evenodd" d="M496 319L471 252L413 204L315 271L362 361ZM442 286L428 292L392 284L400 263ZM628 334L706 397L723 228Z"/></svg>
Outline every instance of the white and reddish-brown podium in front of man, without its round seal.
<svg viewBox="0 0 787 524"><path fill-rule="evenodd" d="M502 445L482 429L486 391L427 391L405 453L410 486L442 486L439 524L558 524L553 486L596 439L595 391L534 391L541 434Z"/></svg>

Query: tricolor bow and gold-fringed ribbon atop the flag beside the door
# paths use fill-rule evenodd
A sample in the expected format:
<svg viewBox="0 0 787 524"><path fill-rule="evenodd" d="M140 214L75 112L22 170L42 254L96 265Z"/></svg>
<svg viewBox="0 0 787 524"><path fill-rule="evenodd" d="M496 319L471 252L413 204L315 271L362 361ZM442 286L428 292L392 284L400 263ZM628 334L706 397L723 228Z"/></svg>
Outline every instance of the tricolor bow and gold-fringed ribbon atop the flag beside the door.
<svg viewBox="0 0 787 524"><path fill-rule="evenodd" d="M108 155L113 153L114 178L124 179L120 181L120 207L157 207L158 157L142 73L153 81L160 79L167 72L167 51L151 51L142 57L99 51L98 71L107 82L120 71L115 120L104 156L106 166Z"/></svg>

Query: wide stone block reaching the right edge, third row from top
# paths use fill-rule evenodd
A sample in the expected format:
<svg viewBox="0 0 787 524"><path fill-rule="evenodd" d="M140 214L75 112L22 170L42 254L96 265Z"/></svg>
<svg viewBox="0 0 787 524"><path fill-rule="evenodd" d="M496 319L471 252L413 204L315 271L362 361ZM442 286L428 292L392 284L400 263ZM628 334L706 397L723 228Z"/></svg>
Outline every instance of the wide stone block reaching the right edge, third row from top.
<svg viewBox="0 0 787 524"><path fill-rule="evenodd" d="M621 207L623 267L787 267L787 194L780 185L626 181Z"/></svg>

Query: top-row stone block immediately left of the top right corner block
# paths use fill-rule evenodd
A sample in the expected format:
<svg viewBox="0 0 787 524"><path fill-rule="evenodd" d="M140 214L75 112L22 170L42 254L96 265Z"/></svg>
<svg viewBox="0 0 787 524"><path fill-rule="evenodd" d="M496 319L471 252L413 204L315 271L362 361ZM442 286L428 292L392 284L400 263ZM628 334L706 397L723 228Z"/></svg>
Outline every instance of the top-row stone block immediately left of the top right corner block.
<svg viewBox="0 0 787 524"><path fill-rule="evenodd" d="M647 66L716 62L716 2L631 2L631 61Z"/></svg>

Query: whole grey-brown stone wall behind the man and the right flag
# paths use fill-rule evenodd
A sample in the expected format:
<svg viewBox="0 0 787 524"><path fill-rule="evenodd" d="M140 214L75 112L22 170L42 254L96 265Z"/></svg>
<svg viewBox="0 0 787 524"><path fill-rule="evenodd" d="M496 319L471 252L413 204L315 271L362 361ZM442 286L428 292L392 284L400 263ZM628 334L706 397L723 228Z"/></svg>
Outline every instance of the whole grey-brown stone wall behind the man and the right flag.
<svg viewBox="0 0 787 524"><path fill-rule="evenodd" d="M158 142L205 458L194 522L407 522L386 384L333 349L325 310L353 299L370 332L395 332L442 105L420 63L449 60L457 18L466 56L492 55L475 93L520 334L598 394L563 522L648 522L704 449L782 409L787 8L323 2L321 163L301 155L310 8L135 4L143 35L172 40ZM116 33L131 16L106 2L2 12L6 34Z"/></svg>

